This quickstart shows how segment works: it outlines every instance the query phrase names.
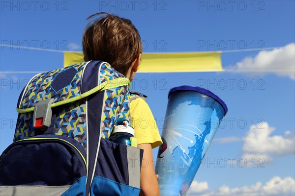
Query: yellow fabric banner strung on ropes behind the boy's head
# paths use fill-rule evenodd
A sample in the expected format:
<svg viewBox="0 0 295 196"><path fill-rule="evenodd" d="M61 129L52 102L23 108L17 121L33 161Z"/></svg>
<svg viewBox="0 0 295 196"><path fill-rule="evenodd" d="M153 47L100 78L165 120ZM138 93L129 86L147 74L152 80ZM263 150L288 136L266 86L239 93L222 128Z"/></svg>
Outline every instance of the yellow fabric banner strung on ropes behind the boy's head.
<svg viewBox="0 0 295 196"><path fill-rule="evenodd" d="M84 62L82 52L64 52L63 66ZM221 52L143 53L138 73L220 72Z"/></svg>

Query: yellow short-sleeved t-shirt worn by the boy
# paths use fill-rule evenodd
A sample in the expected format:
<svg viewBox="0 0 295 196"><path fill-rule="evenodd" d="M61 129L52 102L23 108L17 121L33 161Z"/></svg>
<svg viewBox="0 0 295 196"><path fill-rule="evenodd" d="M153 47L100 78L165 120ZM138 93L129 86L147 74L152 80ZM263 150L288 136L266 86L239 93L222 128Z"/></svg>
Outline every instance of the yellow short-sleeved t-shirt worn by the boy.
<svg viewBox="0 0 295 196"><path fill-rule="evenodd" d="M130 102L131 126L135 130L134 137L138 144L148 143L152 148L163 144L156 121L143 98Z"/></svg>

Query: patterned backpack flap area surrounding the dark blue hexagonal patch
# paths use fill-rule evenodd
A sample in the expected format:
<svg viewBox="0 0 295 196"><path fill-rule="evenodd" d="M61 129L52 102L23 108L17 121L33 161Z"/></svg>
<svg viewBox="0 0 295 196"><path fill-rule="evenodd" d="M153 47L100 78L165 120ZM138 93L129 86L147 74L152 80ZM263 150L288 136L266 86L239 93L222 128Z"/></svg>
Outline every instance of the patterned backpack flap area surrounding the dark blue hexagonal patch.
<svg viewBox="0 0 295 196"><path fill-rule="evenodd" d="M86 62L35 76L28 84L20 108L34 107L42 99L54 98L53 103L55 103L80 95L81 77L85 64ZM75 69L77 72L71 84L63 88L62 91L55 92L51 90L49 87L57 75L61 73L60 71L66 71L68 69Z"/></svg>

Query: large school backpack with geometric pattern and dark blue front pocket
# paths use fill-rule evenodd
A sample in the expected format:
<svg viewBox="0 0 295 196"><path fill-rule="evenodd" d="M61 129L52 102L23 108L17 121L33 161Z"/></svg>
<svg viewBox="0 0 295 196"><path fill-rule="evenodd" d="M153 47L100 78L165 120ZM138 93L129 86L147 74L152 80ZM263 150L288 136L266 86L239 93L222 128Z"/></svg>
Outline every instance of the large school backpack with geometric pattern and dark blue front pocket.
<svg viewBox="0 0 295 196"><path fill-rule="evenodd" d="M103 61L32 77L0 156L0 195L139 195L143 150L107 140L117 119L130 122L129 86Z"/></svg>

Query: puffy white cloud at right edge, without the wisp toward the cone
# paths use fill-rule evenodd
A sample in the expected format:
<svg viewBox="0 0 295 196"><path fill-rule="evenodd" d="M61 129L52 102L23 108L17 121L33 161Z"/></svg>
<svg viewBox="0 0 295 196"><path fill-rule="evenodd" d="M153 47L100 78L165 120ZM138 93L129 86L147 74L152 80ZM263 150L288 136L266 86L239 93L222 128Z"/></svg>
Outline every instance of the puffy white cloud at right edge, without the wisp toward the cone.
<svg viewBox="0 0 295 196"><path fill-rule="evenodd" d="M270 134L275 130L267 122L256 124L250 127L243 140L243 157L269 157L269 154L284 156L295 153L295 138L290 131L285 132L285 136Z"/></svg>

